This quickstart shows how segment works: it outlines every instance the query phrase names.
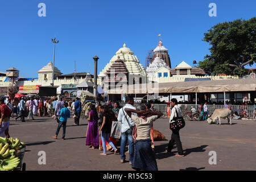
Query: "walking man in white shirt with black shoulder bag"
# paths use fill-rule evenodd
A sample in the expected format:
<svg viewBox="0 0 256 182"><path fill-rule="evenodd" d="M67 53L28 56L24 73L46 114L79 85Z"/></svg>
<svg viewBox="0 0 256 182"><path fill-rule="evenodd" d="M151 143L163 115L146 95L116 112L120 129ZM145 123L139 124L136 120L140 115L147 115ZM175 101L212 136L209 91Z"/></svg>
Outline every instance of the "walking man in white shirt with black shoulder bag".
<svg viewBox="0 0 256 182"><path fill-rule="evenodd" d="M176 98L172 98L171 106L172 106L172 111L171 111L171 116L170 116L170 125L171 125L171 123L175 122L174 121L175 118L182 117L181 109L180 109L180 107L177 106ZM180 141L179 129L171 129L171 126L169 127L169 129L172 130L172 136L171 136L171 140L168 144L168 148L167 148L166 152L167 152L167 154L171 154L171 150L174 147L174 144L176 143L177 151L178 151L178 154L176 154L176 156L183 157L184 152L183 152L181 141Z"/></svg>

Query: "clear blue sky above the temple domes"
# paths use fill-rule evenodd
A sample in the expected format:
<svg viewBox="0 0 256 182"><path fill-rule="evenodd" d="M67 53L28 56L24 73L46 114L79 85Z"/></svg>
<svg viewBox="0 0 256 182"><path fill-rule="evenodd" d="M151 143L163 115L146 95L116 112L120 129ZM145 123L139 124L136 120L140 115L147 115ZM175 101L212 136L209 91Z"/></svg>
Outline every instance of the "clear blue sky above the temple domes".
<svg viewBox="0 0 256 182"><path fill-rule="evenodd" d="M46 17L38 16L38 4L46 4ZM216 3L217 17L210 17L209 3ZM15 67L22 77L38 77L53 57L51 39L56 36L55 66L64 74L98 73L126 43L141 64L159 36L168 48L172 68L181 61L193 65L209 53L204 32L214 24L255 16L255 0L197 1L1 1L0 71ZM256 67L255 64L253 66Z"/></svg>

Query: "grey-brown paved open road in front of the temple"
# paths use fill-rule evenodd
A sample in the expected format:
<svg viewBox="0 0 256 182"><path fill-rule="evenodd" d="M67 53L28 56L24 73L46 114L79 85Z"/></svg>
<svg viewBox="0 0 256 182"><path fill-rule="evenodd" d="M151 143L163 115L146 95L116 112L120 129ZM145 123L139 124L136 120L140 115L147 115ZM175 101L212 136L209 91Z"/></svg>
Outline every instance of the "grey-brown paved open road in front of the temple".
<svg viewBox="0 0 256 182"><path fill-rule="evenodd" d="M230 126L208 125L207 122L187 121L180 131L184 158L166 154L168 140L155 142L155 156L159 170L256 170L256 121L233 120ZM11 137L27 144L23 163L27 170L133 170L129 163L119 163L120 155L102 156L100 150L85 146L88 121L81 119L80 126L73 126L68 119L66 140L53 139L57 122L49 117L36 117L36 121L21 123L11 118ZM158 119L154 129L171 137L168 119ZM62 129L59 138L61 138ZM46 165L39 165L39 151L46 152ZM216 151L217 164L209 164L209 152ZM128 156L126 156L128 158Z"/></svg>

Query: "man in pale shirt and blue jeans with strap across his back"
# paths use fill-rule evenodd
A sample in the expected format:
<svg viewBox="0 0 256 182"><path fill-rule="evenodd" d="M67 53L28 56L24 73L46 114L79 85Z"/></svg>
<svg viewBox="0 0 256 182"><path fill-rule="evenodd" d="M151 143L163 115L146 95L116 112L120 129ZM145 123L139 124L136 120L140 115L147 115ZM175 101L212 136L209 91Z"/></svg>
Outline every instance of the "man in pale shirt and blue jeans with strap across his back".
<svg viewBox="0 0 256 182"><path fill-rule="evenodd" d="M122 134L121 134L121 147L120 147L120 154L121 154L121 163L125 162L125 146L128 140L128 144L129 144L129 164L131 165L133 162L133 153L134 153L134 141L133 141L133 131L131 129L133 129L134 127L134 122L133 120L129 117L129 115L127 115L127 113L125 112L125 108L129 108L129 109L134 109L135 107L133 107L134 104L134 99L133 97L127 96L126 97L126 105L123 106L122 109L119 110L118 113L118 121L122 121ZM135 114L137 115L137 114ZM126 119L127 118L127 119ZM129 126L129 122L130 126Z"/></svg>

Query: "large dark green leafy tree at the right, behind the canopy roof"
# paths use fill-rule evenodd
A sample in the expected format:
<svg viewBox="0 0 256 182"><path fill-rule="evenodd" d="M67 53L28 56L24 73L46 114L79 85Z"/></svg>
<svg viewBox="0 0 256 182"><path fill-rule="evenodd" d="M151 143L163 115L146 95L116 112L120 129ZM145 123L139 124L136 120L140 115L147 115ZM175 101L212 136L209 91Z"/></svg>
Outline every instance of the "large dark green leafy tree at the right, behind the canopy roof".
<svg viewBox="0 0 256 182"><path fill-rule="evenodd" d="M199 62L208 75L245 75L245 65L256 63L256 17L218 23L204 34L203 41L212 46L210 55Z"/></svg>

